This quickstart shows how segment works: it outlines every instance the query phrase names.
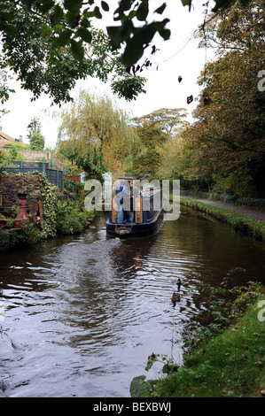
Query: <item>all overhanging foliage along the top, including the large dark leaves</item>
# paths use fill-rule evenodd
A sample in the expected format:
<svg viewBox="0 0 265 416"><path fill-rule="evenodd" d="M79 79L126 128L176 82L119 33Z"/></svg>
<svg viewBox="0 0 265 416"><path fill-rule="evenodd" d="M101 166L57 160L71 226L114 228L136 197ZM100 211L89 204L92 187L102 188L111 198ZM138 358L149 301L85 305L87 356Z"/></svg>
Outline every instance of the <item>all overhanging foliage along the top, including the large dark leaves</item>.
<svg viewBox="0 0 265 416"><path fill-rule="evenodd" d="M190 10L191 3L182 0ZM214 12L233 3L215 0ZM155 34L164 40L170 37L168 17L156 19L165 12L166 3L156 9L153 20L149 0L121 0L114 12L118 25L107 27L109 38L103 42L103 34L91 21L109 12L109 4L101 1L96 5L96 0L2 0L2 67L10 66L22 87L33 92L33 98L44 92L56 104L71 100L69 91L76 80L90 75L105 81L113 71L118 76L113 80L113 91L127 99L135 98L144 91L144 79L129 75L126 68L143 56ZM120 57L121 47L124 51ZM8 96L8 89L0 91L0 98Z"/></svg>

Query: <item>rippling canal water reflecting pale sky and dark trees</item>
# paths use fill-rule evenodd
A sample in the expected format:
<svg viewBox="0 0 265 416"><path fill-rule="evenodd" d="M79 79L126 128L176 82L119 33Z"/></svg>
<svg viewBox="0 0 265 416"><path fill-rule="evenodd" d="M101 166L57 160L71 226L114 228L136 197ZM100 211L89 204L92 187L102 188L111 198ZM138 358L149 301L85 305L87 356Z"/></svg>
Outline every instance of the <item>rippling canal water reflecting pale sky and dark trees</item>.
<svg viewBox="0 0 265 416"><path fill-rule="evenodd" d="M199 283L264 283L265 244L188 208L152 237L82 235L1 254L0 397L129 397L160 376L150 354L182 364L183 331L207 304ZM171 302L180 278L181 301Z"/></svg>

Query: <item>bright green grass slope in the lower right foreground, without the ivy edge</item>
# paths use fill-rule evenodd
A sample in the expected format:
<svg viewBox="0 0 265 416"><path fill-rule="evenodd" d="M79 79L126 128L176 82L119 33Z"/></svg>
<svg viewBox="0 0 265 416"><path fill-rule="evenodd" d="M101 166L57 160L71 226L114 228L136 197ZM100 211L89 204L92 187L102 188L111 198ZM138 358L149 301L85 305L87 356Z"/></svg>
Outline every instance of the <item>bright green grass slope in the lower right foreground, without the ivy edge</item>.
<svg viewBox="0 0 265 416"><path fill-rule="evenodd" d="M185 354L176 373L151 382L138 377L137 397L261 397L265 389L265 311L261 321L261 300L265 300L264 294L237 324L200 345L198 351Z"/></svg>

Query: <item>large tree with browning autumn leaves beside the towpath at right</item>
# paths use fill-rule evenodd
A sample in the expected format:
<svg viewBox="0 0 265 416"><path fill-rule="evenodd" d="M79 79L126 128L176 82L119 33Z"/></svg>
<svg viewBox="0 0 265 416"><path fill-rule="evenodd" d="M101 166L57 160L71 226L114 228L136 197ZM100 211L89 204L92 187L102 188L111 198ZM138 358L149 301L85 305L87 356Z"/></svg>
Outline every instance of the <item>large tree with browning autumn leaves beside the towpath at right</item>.
<svg viewBox="0 0 265 416"><path fill-rule="evenodd" d="M201 74L197 121L188 131L199 173L240 196L264 196L265 101L257 78L264 67L263 19L264 4L236 2L214 30L211 25L211 40L222 47Z"/></svg>

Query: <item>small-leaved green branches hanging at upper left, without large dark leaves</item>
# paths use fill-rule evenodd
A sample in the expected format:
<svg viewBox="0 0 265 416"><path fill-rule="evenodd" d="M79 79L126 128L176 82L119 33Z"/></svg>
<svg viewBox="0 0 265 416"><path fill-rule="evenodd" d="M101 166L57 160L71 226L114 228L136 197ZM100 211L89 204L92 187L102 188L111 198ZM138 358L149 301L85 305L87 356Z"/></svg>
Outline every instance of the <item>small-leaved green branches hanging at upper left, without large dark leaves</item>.
<svg viewBox="0 0 265 416"><path fill-rule="evenodd" d="M125 99L135 99L144 92L145 79L126 72L120 54L112 50L107 35L91 26L90 13L82 12L82 26L75 31L74 27L70 28L67 20L70 7L77 3L71 2L65 15L66 10L59 4L47 9L49 4L52 6L51 1L42 4L4 0L0 12L8 23L0 19L3 33L1 67L12 68L22 88L32 91L32 99L45 93L55 104L71 101L69 91L77 80L96 76L107 81L112 73L114 92ZM1 97L4 100L8 96L5 86Z"/></svg>

